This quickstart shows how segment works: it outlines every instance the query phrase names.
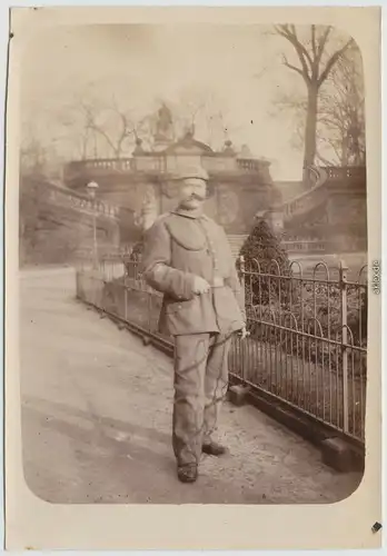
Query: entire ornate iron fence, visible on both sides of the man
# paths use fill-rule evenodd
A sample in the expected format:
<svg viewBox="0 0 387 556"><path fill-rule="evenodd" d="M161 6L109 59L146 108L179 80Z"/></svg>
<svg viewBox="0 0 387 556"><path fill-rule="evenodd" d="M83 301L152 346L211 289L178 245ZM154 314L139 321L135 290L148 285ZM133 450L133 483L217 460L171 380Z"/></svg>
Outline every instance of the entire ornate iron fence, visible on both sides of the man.
<svg viewBox="0 0 387 556"><path fill-rule="evenodd" d="M239 272L246 291L249 337L234 338L230 373L285 404L364 443L367 379L366 267L357 279L325 262L304 274L294 261L281 274L276 261L258 261ZM351 272L354 275L354 272ZM142 280L139 260L85 259L77 271L83 301L159 338L161 296Z"/></svg>

